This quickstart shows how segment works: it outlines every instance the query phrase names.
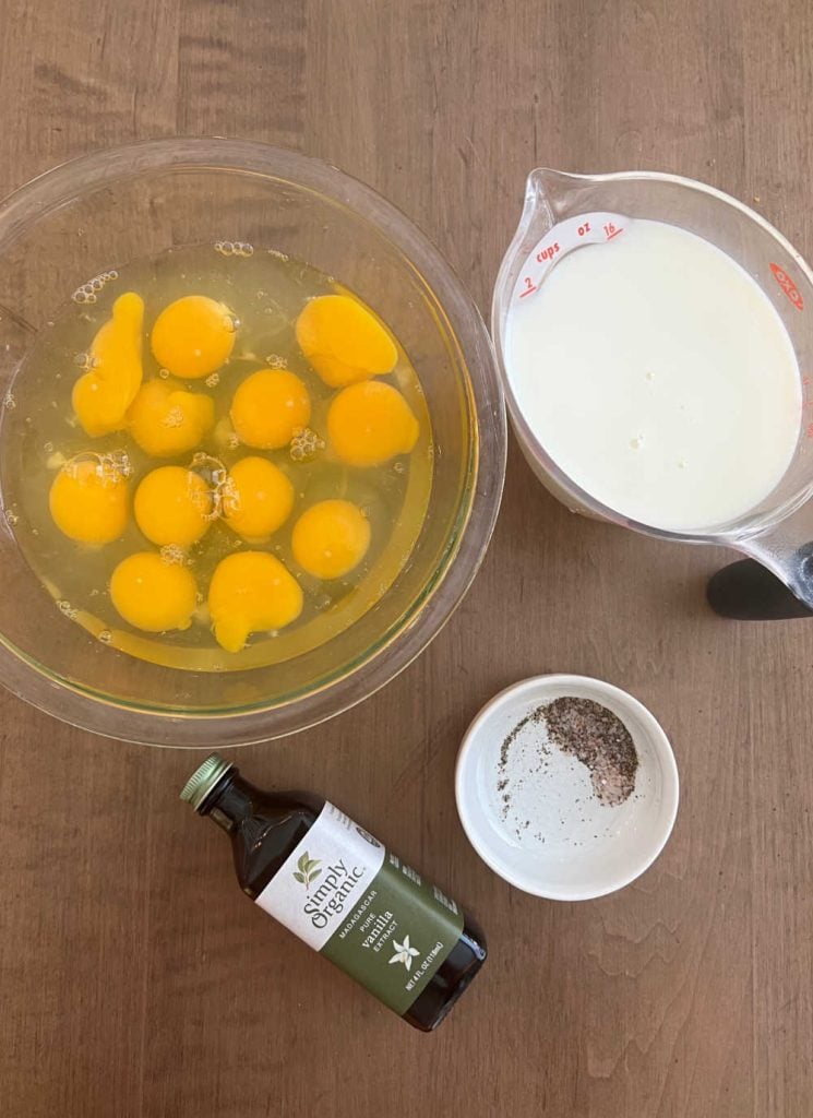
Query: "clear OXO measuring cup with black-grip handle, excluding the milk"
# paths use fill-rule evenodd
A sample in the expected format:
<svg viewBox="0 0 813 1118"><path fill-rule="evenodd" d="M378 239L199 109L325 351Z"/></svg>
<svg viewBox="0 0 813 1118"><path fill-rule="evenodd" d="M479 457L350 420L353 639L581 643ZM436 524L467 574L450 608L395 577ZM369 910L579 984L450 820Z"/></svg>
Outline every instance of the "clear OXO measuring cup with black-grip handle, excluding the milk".
<svg viewBox="0 0 813 1118"><path fill-rule="evenodd" d="M570 252L621 235L632 218L679 226L723 249L772 302L794 347L802 380L803 421L794 457L776 489L745 515L702 532L666 531L623 515L581 489L557 465L526 421L507 367L511 307L533 296ZM519 446L539 481L574 512L661 539L734 548L765 570L735 563L712 580L710 599L731 616L795 616L813 609L813 273L795 248L758 214L714 187L657 172L565 174L541 168L528 177L525 206L495 285L491 333L508 413ZM745 596L745 597L743 597Z"/></svg>

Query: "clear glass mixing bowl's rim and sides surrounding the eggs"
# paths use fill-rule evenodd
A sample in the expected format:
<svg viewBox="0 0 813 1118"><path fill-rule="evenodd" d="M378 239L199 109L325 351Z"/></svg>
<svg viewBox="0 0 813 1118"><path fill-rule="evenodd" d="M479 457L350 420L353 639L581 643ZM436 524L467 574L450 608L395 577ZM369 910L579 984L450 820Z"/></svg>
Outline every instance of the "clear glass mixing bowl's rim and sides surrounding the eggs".
<svg viewBox="0 0 813 1118"><path fill-rule="evenodd" d="M0 681L88 730L207 749L312 726L410 663L477 571L506 453L488 333L436 248L393 206L334 168L239 140L156 140L98 152L2 202L0 399L8 400L37 331L79 285L135 257L219 240L306 260L382 315L423 386L434 473L417 544L375 605L326 644L270 666L214 674L159 666L99 643L60 613L0 517Z"/></svg>

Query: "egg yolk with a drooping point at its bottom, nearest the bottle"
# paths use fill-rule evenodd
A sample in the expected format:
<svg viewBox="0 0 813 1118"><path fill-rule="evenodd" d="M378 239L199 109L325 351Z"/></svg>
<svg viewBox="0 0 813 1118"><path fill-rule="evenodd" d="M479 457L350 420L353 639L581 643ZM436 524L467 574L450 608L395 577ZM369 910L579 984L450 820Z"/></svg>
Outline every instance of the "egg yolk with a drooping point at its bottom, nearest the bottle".
<svg viewBox="0 0 813 1118"><path fill-rule="evenodd" d="M302 607L299 584L279 559L265 551L227 556L209 584L214 637L227 652L239 652L251 633L289 625Z"/></svg>

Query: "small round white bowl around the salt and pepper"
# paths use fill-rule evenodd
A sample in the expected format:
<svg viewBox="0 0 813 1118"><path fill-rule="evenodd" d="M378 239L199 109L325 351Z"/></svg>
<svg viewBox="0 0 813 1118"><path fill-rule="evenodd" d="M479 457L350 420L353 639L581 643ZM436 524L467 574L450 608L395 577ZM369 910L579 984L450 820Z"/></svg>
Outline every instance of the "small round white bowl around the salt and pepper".
<svg viewBox="0 0 813 1118"><path fill-rule="evenodd" d="M504 750L523 718L563 695L592 699L630 731L638 771L623 804L602 804L581 761L545 748L544 728L529 726ZM535 764L541 752L544 764ZM467 730L455 779L460 822L484 862L518 889L563 901L603 897L643 873L669 839L678 789L675 755L654 717L585 675L537 675L501 691Z"/></svg>

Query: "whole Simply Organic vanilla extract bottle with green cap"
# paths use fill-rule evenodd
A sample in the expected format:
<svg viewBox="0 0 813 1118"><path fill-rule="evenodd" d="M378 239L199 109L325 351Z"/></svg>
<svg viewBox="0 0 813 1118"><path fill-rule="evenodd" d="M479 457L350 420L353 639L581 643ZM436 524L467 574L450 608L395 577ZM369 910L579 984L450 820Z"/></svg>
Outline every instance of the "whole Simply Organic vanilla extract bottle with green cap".
<svg viewBox="0 0 813 1118"><path fill-rule="evenodd" d="M227 832L251 900L415 1029L436 1029L482 966L474 920L333 804L256 788L218 754L181 799Z"/></svg>

